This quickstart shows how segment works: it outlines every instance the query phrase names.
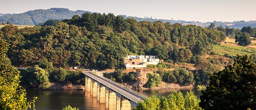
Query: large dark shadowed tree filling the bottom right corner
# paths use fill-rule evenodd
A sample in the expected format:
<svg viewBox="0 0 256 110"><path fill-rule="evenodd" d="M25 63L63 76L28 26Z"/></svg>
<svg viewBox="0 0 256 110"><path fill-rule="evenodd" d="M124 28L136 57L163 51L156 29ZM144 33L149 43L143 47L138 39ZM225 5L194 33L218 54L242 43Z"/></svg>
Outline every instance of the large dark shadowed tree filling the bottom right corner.
<svg viewBox="0 0 256 110"><path fill-rule="evenodd" d="M200 96L203 109L256 109L256 64L251 56L237 55L232 66L210 75L209 79L209 86Z"/></svg>

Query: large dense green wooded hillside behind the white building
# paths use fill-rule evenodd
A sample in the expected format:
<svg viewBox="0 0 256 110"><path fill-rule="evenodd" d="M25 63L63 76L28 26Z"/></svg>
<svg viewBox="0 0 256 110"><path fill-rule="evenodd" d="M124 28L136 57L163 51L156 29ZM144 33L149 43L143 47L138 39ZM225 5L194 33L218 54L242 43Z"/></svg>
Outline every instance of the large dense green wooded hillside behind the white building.
<svg viewBox="0 0 256 110"><path fill-rule="evenodd" d="M255 35L255 28L244 27L240 32L234 28L215 28L214 24L203 28L162 21L138 22L111 13L87 12L54 26L18 29L6 25L0 29L0 38L11 44L7 56L16 67L51 64L56 68L114 69L124 65L128 54L145 54L164 60L157 66L162 68L157 73L166 82L208 84L208 74L232 63L229 54L222 56L212 50L225 40L227 33L238 33L239 38L244 38ZM210 56L205 57L206 54ZM192 65L196 70L170 71L171 64ZM47 68L44 66L50 70ZM48 72L50 76L54 73Z"/></svg>

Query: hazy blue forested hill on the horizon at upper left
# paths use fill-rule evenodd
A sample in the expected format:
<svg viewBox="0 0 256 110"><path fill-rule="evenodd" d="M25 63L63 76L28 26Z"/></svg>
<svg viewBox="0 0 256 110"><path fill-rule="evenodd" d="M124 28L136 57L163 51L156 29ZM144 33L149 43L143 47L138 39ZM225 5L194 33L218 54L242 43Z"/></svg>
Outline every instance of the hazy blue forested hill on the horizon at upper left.
<svg viewBox="0 0 256 110"><path fill-rule="evenodd" d="M14 25L38 25L48 19L70 19L73 15L81 15L89 11L71 11L67 8L37 9L19 14L0 14L0 22L7 24L11 21Z"/></svg>

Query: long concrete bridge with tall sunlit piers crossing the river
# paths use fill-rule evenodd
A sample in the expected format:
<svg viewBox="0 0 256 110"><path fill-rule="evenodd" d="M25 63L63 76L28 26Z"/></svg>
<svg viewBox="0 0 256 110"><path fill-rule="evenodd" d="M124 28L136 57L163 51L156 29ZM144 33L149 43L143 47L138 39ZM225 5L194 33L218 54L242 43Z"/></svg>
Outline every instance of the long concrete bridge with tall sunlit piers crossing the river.
<svg viewBox="0 0 256 110"><path fill-rule="evenodd" d="M105 103L108 110L132 110L139 100L148 98L125 85L114 82L103 76L98 76L93 72L83 71L85 74L85 90L90 92L92 97L97 97L97 101Z"/></svg>

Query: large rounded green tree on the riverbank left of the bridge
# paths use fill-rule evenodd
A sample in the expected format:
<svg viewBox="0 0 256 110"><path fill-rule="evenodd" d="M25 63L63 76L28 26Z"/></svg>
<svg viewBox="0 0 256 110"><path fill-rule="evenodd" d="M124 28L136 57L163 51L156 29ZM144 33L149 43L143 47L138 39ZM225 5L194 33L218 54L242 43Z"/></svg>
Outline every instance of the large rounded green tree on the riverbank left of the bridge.
<svg viewBox="0 0 256 110"><path fill-rule="evenodd" d="M50 87L49 73L38 65L28 67L25 73L22 73L23 83L27 83L32 87L46 89Z"/></svg>

